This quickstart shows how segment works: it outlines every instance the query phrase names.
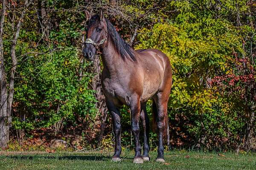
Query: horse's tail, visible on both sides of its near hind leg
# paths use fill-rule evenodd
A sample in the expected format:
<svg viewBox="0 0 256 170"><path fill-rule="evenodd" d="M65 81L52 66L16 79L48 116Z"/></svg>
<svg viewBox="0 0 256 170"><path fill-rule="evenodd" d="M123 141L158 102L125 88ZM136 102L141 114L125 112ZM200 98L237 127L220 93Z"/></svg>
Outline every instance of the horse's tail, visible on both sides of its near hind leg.
<svg viewBox="0 0 256 170"><path fill-rule="evenodd" d="M157 132L157 104L154 102L152 103L152 113L153 113L153 130L154 132ZM167 137L167 127L168 127L168 114L166 112L166 115L164 116L164 130L163 130L163 139Z"/></svg>

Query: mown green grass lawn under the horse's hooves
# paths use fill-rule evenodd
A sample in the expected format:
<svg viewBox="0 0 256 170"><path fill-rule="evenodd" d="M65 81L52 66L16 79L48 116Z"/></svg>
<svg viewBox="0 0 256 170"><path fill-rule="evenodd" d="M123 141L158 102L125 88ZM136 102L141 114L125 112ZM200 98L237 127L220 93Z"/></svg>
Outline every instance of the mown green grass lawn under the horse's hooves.
<svg viewBox="0 0 256 170"><path fill-rule="evenodd" d="M165 163L151 161L133 164L133 152L122 152L122 161L112 162L112 152L0 152L0 170L256 170L256 154L169 151Z"/></svg>

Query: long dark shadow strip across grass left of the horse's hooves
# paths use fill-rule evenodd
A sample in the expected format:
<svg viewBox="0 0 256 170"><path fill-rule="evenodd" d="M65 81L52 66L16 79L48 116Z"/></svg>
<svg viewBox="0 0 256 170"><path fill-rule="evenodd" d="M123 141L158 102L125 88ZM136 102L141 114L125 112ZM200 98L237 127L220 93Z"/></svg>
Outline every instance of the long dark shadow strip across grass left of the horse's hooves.
<svg viewBox="0 0 256 170"><path fill-rule="evenodd" d="M9 159L17 160L34 160L34 159L57 159L57 160L83 160L83 161L106 161L111 159L110 156L31 156L31 155L16 155L16 156L6 156Z"/></svg>

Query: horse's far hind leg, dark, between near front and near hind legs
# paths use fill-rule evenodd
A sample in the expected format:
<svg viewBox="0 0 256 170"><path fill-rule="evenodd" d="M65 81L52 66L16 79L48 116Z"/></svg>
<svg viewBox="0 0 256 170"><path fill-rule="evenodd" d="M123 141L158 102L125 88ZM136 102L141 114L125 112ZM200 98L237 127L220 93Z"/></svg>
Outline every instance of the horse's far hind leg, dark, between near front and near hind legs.
<svg viewBox="0 0 256 170"><path fill-rule="evenodd" d="M146 111L146 103L140 104L140 120L143 126L144 132L144 143L143 143L143 155L142 158L144 161L149 161L150 158L148 156L149 146L148 146L148 135L149 135L149 119Z"/></svg>

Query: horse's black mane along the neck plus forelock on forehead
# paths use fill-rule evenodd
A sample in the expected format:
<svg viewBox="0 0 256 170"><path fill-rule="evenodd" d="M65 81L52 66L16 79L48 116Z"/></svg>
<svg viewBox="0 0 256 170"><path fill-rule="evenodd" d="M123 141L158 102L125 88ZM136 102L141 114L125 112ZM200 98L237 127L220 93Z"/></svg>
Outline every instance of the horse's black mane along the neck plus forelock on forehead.
<svg viewBox="0 0 256 170"><path fill-rule="evenodd" d="M88 28L90 28L93 23L98 22L99 20L100 17L98 14L91 17L87 23ZM136 58L131 46L122 39L122 37L116 31L116 28L107 18L105 18L105 21L107 24L108 37L111 38L113 45L116 47L116 52L122 57L123 60L125 60L126 57L130 57L135 62Z"/></svg>

